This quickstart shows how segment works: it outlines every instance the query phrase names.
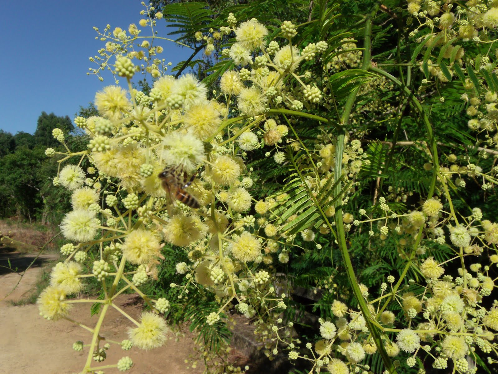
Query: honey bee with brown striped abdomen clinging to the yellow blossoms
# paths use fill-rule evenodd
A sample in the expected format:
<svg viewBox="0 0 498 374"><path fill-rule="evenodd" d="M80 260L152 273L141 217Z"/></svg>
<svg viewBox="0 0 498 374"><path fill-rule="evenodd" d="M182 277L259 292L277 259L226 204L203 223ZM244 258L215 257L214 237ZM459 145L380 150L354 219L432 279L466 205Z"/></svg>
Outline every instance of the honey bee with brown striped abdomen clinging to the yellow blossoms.
<svg viewBox="0 0 498 374"><path fill-rule="evenodd" d="M180 167L168 167L159 173L159 179L161 180L162 188L169 194L171 201L177 199L183 202L185 205L191 208L197 209L199 201L188 193L185 188L189 187L195 179L196 174L194 174L190 179L188 179L187 172L183 171ZM174 196L174 198L173 198Z"/></svg>

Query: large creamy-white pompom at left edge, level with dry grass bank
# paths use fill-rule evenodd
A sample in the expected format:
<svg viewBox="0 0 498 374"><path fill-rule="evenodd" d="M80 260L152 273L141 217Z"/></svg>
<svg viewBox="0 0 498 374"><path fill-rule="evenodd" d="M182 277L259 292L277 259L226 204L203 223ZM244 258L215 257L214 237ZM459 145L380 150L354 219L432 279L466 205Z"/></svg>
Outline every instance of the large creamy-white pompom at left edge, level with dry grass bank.
<svg viewBox="0 0 498 374"><path fill-rule="evenodd" d="M95 212L79 209L67 213L60 227L65 238L85 243L95 237L98 225Z"/></svg>

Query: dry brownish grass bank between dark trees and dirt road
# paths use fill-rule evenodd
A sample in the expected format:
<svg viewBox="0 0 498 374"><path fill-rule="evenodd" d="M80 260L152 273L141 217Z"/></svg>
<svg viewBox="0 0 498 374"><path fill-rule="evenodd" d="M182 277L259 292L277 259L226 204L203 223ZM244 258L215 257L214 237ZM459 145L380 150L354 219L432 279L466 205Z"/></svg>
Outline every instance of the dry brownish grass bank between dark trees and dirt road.
<svg viewBox="0 0 498 374"><path fill-rule="evenodd" d="M37 223L0 220L0 251L34 252L52 239L58 232L54 226L43 226ZM56 248L52 242L47 249Z"/></svg>

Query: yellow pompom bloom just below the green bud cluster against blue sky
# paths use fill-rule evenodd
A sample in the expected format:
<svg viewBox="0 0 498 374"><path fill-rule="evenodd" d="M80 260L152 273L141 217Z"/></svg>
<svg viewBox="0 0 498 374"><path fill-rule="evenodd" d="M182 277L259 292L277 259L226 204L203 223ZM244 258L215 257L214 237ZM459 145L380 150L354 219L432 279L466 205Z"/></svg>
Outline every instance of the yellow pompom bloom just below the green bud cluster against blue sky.
<svg viewBox="0 0 498 374"><path fill-rule="evenodd" d="M95 106L99 113L111 121L123 118L124 113L131 109L131 103L126 97L126 90L120 86L107 86L95 94Z"/></svg>

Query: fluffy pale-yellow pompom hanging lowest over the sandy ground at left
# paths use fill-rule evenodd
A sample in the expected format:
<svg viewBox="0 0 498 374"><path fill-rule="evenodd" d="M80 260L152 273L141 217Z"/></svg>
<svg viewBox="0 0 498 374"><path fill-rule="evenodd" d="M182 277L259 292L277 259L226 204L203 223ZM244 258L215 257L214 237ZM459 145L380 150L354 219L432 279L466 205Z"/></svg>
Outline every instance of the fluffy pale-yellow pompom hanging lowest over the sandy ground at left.
<svg viewBox="0 0 498 374"><path fill-rule="evenodd" d="M152 312L143 312L140 325L128 331L133 346L142 350L161 347L166 341L166 322Z"/></svg>

